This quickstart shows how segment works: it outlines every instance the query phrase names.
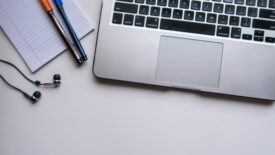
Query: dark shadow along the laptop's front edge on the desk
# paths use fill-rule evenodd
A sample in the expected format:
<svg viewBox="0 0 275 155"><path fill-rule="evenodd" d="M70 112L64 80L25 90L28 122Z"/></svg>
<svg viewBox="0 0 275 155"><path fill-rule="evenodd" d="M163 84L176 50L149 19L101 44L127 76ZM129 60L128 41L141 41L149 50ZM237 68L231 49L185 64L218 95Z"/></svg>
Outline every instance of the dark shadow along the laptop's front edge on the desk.
<svg viewBox="0 0 275 155"><path fill-rule="evenodd" d="M241 102L244 104L257 104L257 105L263 105L263 106L272 106L273 105L273 101L271 101L271 100L256 99L256 98L249 98L249 97L242 97L242 96L200 92L200 91L186 90L186 89L179 89L179 88L169 88L169 87L164 87L164 86L133 83L133 82L127 82L127 81L100 79L100 78L96 78L96 77L95 77L95 81L97 83L103 84L103 85L112 85L112 86L118 86L118 87L135 87L138 89L146 89L146 90L158 91L158 92L178 91L178 92L182 92L182 93L195 94L200 97L207 98L207 99L217 99L217 100L222 100L222 101Z"/></svg>

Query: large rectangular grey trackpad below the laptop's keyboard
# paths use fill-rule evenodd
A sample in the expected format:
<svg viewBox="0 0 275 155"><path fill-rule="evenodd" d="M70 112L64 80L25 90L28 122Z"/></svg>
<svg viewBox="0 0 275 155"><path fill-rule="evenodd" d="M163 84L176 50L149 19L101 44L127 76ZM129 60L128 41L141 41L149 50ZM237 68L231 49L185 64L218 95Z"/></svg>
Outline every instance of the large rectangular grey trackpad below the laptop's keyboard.
<svg viewBox="0 0 275 155"><path fill-rule="evenodd" d="M223 44L162 36L156 80L178 86L219 87Z"/></svg>

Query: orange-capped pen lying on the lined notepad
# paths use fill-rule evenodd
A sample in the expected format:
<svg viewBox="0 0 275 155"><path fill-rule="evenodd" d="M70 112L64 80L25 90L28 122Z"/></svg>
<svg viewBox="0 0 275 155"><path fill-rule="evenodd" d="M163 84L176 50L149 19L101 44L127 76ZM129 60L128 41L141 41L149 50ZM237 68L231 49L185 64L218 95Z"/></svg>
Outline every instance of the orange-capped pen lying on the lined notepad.
<svg viewBox="0 0 275 155"><path fill-rule="evenodd" d="M74 58L76 59L78 64L82 64L82 59L78 55L77 51L73 47L73 43L71 43L69 37L67 36L66 32L62 28L60 22L56 18L53 12L53 7L49 0L40 0L42 6L44 7L45 11L49 14L50 18L52 19L53 23L55 24L56 28L58 29L58 32L62 36L63 40L65 41L66 45L68 46L69 50L72 52Z"/></svg>

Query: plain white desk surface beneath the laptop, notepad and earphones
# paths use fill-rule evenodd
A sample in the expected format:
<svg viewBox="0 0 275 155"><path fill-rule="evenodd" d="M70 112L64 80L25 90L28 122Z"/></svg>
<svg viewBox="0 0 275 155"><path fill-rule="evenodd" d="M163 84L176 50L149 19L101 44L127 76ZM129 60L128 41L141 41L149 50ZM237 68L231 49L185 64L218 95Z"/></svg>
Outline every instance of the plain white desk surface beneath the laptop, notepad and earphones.
<svg viewBox="0 0 275 155"><path fill-rule="evenodd" d="M77 0L98 23L100 0ZM274 155L275 106L261 100L97 80L96 33L83 45L89 61L76 67L69 52L31 74L0 32L0 58L58 89L39 89L31 105L0 81L0 155ZM0 64L0 73L32 93L37 88Z"/></svg>

